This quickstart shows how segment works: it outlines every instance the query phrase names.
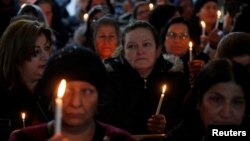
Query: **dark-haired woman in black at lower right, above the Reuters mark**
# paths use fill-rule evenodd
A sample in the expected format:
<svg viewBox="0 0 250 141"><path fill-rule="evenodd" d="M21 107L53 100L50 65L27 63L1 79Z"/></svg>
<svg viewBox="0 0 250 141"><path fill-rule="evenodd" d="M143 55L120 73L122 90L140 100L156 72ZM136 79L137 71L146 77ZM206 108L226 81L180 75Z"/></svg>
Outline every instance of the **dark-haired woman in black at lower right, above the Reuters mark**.
<svg viewBox="0 0 250 141"><path fill-rule="evenodd" d="M249 76L227 59L211 61L196 77L186 98L185 118L169 132L169 140L206 140L212 136L210 126L249 126Z"/></svg>

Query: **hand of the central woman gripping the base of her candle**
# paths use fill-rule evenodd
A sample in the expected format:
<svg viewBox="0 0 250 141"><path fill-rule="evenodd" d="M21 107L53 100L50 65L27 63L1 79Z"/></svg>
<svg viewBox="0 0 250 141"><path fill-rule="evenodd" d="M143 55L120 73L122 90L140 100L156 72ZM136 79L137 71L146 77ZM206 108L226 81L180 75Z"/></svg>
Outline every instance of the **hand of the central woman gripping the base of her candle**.
<svg viewBox="0 0 250 141"><path fill-rule="evenodd" d="M148 130L152 133L164 133L167 121L163 114L152 115L148 119Z"/></svg>

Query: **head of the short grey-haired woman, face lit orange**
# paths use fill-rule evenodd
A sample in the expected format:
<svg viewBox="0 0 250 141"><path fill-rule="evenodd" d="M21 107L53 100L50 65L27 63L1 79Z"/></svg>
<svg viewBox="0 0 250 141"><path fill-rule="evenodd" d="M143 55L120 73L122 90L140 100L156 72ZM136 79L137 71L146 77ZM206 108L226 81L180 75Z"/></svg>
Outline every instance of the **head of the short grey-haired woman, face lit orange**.
<svg viewBox="0 0 250 141"><path fill-rule="evenodd" d="M109 58L119 45L119 26L115 19L102 17L94 26L94 46L102 60Z"/></svg>

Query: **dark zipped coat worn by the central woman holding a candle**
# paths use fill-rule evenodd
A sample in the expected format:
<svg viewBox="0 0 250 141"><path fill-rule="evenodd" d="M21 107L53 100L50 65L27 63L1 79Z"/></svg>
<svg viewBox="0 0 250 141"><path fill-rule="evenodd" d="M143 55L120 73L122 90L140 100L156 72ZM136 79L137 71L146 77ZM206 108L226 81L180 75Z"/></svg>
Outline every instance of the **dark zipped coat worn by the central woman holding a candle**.
<svg viewBox="0 0 250 141"><path fill-rule="evenodd" d="M147 134L147 120L156 112L163 84L167 91L160 114L167 118L168 127L181 119L182 99L189 83L181 72L170 72L172 66L163 58L143 79L128 62L120 57L106 60L109 77L106 95L100 100L101 120L126 129L132 134Z"/></svg>

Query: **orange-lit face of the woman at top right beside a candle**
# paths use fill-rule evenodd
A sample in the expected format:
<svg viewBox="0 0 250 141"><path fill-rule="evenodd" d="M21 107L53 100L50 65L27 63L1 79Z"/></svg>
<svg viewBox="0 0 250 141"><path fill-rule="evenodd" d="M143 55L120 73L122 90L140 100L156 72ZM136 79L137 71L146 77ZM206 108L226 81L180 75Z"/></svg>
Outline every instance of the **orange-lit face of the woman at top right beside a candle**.
<svg viewBox="0 0 250 141"><path fill-rule="evenodd" d="M217 20L217 10L217 3L210 1L205 3L197 14L200 20L203 20L206 24L213 25Z"/></svg>

